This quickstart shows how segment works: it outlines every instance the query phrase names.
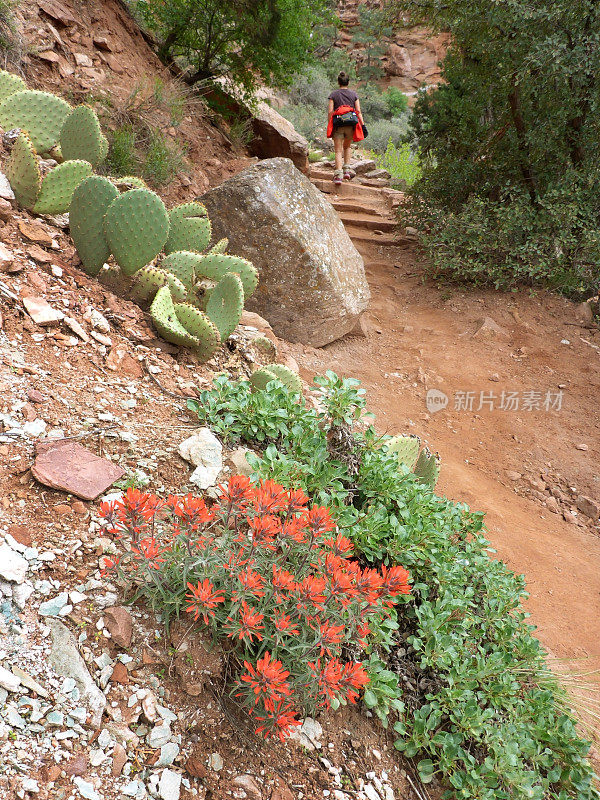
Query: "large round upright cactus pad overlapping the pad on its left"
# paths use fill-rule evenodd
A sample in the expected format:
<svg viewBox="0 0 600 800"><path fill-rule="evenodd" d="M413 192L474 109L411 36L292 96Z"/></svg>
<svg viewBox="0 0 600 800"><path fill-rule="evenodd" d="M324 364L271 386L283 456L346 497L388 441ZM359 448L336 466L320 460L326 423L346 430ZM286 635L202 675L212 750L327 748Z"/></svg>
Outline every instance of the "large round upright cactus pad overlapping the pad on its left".
<svg viewBox="0 0 600 800"><path fill-rule="evenodd" d="M111 203L104 233L123 273L133 275L156 258L167 241L165 204L149 189L130 189Z"/></svg>

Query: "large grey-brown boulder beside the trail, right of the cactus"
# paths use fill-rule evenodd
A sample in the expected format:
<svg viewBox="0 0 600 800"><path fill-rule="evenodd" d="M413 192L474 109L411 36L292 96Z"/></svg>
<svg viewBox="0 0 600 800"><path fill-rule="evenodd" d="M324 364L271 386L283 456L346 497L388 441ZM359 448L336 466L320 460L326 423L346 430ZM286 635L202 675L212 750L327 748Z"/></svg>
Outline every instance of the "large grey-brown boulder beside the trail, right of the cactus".
<svg viewBox="0 0 600 800"><path fill-rule="evenodd" d="M207 192L216 239L259 271L246 301L275 333L321 347L349 333L369 301L363 260L333 207L286 158L261 161Z"/></svg>

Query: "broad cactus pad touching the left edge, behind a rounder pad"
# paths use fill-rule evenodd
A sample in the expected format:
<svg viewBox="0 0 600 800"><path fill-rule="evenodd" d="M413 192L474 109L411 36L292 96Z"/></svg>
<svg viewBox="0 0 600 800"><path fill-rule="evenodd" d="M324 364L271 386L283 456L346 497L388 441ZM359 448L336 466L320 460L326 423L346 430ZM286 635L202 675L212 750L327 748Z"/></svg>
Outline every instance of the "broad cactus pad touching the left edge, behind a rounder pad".
<svg viewBox="0 0 600 800"><path fill-rule="evenodd" d="M0 128L26 130L36 151L47 153L58 142L70 111L69 104L54 94L25 89L0 103Z"/></svg>

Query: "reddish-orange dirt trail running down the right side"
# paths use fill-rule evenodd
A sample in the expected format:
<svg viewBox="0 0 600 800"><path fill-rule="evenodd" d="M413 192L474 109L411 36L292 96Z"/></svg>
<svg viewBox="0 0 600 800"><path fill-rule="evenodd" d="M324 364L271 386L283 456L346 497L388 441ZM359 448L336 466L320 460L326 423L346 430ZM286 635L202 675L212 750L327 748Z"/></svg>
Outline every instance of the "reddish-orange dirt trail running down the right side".
<svg viewBox="0 0 600 800"><path fill-rule="evenodd" d="M346 184L328 196L365 259L372 300L366 337L296 346L304 377L330 368L359 378L379 430L417 433L437 450L438 491L486 512L498 556L526 576L546 648L600 667L600 529L576 506L600 499L600 331L573 325L573 305L547 293L440 291L423 280L410 238L390 243L379 190ZM448 397L436 413L431 389ZM518 393L518 410L500 410L502 392ZM560 408L544 409L548 392ZM459 410L461 398L472 409Z"/></svg>

